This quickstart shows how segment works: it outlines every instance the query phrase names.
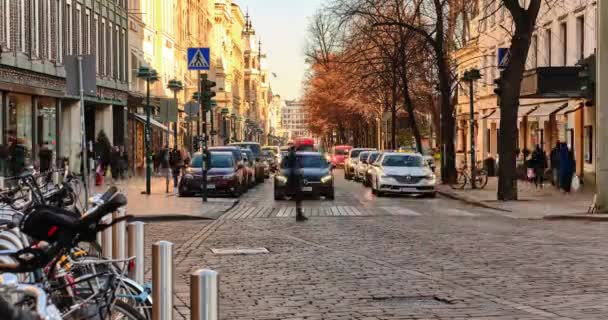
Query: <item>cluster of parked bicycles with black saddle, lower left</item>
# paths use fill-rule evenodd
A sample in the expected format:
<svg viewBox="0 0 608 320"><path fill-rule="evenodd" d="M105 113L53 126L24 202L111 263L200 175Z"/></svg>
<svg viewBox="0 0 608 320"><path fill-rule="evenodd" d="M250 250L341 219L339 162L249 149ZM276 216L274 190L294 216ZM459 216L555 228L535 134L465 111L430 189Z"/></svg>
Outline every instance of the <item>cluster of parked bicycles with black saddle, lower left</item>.
<svg viewBox="0 0 608 320"><path fill-rule="evenodd" d="M115 214L126 196L115 187L79 201L80 180L63 172L27 173L0 192L2 319L151 319L150 288L130 279L134 257L102 257L100 233L131 217Z"/></svg>

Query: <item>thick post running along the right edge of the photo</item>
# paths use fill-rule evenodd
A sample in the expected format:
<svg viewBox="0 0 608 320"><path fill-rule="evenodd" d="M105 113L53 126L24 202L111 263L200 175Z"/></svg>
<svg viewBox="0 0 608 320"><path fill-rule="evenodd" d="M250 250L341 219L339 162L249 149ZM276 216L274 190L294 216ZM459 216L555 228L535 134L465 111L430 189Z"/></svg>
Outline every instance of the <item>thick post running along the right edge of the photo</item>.
<svg viewBox="0 0 608 320"><path fill-rule="evenodd" d="M606 104L608 104L608 90L602 90L608 84L608 2L606 0L597 2L597 62L596 74L596 116L595 130L597 138L595 139L596 147L596 203L595 209L598 212L608 211L608 144L604 143L608 139L608 128L604 130L608 123L608 112L606 112ZM602 41L602 39L604 39Z"/></svg>

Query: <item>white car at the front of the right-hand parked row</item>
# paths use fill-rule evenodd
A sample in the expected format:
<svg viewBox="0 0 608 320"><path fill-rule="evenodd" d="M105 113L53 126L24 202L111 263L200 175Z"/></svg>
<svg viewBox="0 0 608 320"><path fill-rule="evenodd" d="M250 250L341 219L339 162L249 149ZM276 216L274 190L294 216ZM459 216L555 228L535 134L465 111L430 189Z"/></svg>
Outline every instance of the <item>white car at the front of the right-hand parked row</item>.
<svg viewBox="0 0 608 320"><path fill-rule="evenodd" d="M434 198L437 178L419 153L387 152L373 165L372 193L420 194Z"/></svg>

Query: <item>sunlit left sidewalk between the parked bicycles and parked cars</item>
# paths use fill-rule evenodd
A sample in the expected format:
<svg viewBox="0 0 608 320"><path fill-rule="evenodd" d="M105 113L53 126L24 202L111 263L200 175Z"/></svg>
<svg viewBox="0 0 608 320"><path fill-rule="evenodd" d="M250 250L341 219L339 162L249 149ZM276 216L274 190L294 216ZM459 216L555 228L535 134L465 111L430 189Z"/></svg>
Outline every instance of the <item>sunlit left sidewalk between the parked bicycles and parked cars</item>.
<svg viewBox="0 0 608 320"><path fill-rule="evenodd" d="M217 219L238 202L234 198L209 198L203 204L200 197L180 198L173 193L173 180L166 193L164 177L152 177L151 194L142 194L146 190L145 177L132 177L114 182L106 179L104 186L91 186L91 194L105 191L115 183L128 198L127 213L138 220L183 220L183 219Z"/></svg>

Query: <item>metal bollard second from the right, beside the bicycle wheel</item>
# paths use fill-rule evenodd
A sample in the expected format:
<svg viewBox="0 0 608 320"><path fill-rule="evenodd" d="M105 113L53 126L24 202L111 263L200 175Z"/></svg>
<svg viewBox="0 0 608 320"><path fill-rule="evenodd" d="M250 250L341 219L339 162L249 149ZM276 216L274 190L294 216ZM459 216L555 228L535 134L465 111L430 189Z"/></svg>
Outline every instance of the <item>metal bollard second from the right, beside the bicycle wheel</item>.
<svg viewBox="0 0 608 320"><path fill-rule="evenodd" d="M173 243L152 245L152 319L173 320Z"/></svg>

